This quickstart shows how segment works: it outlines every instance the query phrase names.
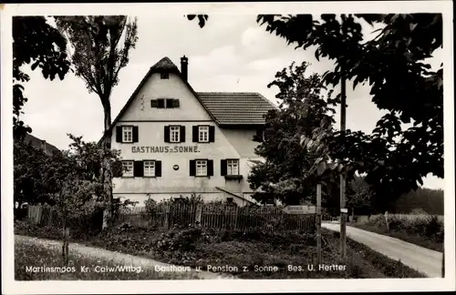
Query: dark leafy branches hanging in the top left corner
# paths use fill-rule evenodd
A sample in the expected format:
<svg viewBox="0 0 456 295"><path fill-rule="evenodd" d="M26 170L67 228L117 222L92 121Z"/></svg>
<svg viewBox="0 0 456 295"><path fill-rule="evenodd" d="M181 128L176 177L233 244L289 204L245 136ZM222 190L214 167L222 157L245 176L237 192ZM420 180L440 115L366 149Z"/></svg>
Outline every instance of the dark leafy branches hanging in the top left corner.
<svg viewBox="0 0 456 295"><path fill-rule="evenodd" d="M13 127L15 138L23 138L32 129L20 119L24 97L24 83L30 80L21 69L32 64L31 69L41 69L46 79L56 76L63 80L69 70L67 41L44 16L13 17Z"/></svg>

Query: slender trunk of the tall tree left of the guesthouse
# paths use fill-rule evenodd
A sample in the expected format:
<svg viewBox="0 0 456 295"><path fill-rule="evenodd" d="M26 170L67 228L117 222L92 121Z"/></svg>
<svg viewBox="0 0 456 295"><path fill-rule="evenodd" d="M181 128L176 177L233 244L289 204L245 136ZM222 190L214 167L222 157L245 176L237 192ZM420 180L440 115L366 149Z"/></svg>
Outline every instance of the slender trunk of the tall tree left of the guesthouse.
<svg viewBox="0 0 456 295"><path fill-rule="evenodd" d="M109 160L109 150L111 148L111 108L109 103L103 104L103 111L104 111L104 138L103 138L103 149L105 153L103 154L103 165L102 165L102 173L101 178L103 181L103 187L105 196L107 198L109 208L105 209L103 214L103 229L109 228L112 217L113 217L113 210L114 210L114 202L112 197L112 169Z"/></svg>

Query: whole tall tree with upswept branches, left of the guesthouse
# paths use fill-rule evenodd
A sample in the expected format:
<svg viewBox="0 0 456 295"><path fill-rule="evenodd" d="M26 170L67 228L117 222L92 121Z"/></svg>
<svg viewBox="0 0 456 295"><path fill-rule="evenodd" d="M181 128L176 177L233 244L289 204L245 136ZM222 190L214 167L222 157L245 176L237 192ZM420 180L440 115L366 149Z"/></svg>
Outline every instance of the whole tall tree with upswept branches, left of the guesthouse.
<svg viewBox="0 0 456 295"><path fill-rule="evenodd" d="M120 69L129 63L130 49L135 48L138 40L138 26L136 19L130 21L125 15L58 16L56 22L72 46L70 59L75 66L76 76L84 80L89 92L98 95L103 107L102 145L106 157L100 178L111 205L105 222L105 226L108 226L114 206L112 171L108 158L112 123L110 96L113 87L119 82Z"/></svg>

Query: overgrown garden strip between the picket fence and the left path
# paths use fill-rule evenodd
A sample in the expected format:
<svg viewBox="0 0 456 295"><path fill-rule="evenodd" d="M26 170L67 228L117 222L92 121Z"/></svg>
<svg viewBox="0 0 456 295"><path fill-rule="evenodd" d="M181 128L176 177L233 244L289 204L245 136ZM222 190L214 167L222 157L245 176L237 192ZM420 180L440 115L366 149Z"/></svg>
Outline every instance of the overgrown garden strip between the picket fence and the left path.
<svg viewBox="0 0 456 295"><path fill-rule="evenodd" d="M61 239L62 236L61 229L38 227L27 220L16 221L15 233L44 239ZM351 239L347 239L347 261L341 261L338 233L322 229L322 240L322 263L346 265L345 270L308 271L307 265L316 264L316 238L308 233L202 229L195 225L153 229L124 222L97 235L73 230L70 236L71 242L174 265L200 267L201 270L212 266L210 271L217 267L229 268L230 274L239 279L424 277ZM32 255L28 259L38 258ZM304 271L289 271L289 266L301 267ZM264 269L260 270L262 267Z"/></svg>

